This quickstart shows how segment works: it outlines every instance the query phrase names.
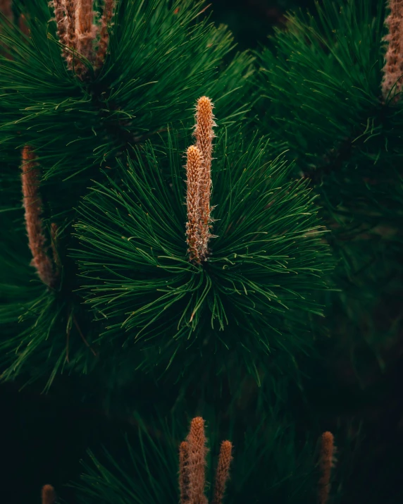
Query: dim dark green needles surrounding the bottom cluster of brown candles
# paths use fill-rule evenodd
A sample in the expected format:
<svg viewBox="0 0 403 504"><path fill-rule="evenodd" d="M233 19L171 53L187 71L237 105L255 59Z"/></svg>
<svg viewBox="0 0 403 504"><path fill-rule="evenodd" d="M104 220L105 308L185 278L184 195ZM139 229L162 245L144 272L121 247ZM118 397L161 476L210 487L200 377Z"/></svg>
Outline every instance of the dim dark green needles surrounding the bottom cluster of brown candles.
<svg viewBox="0 0 403 504"><path fill-rule="evenodd" d="M79 503L178 503L178 448L189 422L161 418L146 423L138 416L135 422L138 434L119 462L108 452L100 459L89 453L91 462L84 463L82 482L77 486ZM206 424L206 436L210 448L206 495L211 493L224 436L235 445L225 502L314 502L318 482L316 441L297 436L286 419L264 417L258 426L243 433L236 422L223 429L220 422L211 419Z"/></svg>

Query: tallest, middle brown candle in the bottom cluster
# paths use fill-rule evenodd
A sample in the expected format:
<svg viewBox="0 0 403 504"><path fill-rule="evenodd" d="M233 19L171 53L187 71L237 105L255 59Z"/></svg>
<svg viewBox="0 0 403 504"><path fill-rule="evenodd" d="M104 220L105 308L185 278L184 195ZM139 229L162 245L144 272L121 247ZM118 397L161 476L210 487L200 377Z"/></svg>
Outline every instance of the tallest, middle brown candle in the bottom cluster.
<svg viewBox="0 0 403 504"><path fill-rule="evenodd" d="M204 494L206 486L206 436L204 435L204 419L196 417L190 423L190 432L187 436L189 445L188 476L189 497L191 504L207 504Z"/></svg>

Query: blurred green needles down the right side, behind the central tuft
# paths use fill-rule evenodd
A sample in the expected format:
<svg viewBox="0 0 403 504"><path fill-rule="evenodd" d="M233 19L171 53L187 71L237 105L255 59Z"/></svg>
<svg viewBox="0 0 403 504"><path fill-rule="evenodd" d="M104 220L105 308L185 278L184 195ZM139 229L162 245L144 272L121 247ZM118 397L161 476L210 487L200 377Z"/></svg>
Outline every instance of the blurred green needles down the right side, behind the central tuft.
<svg viewBox="0 0 403 504"><path fill-rule="evenodd" d="M384 296L402 295L403 116L402 102L380 92L385 15L383 1L324 1L288 16L275 51L259 56L261 128L318 194L339 261L340 295L323 301L332 309L314 325L351 355L369 344L381 367L402 328L381 314Z"/></svg>

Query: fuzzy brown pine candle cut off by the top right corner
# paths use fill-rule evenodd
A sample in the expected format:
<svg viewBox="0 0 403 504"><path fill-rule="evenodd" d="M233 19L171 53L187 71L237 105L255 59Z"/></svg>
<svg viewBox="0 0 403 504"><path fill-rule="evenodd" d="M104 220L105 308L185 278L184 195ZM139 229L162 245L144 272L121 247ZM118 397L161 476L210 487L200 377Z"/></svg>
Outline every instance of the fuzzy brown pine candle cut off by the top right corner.
<svg viewBox="0 0 403 504"><path fill-rule="evenodd" d="M385 19L389 33L385 36L387 51L383 66L382 94L388 97L393 87L394 94L403 87L403 0L389 0L389 16ZM397 101L398 97L395 97Z"/></svg>

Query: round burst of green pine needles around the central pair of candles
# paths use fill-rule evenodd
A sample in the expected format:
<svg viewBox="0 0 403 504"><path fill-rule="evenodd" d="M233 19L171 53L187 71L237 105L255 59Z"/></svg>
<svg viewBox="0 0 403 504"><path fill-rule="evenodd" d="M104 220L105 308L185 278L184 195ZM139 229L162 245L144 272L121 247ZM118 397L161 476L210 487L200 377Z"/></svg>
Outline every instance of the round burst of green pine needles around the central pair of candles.
<svg viewBox="0 0 403 504"><path fill-rule="evenodd" d="M96 185L80 207L75 257L80 292L104 321L99 341L138 342L146 351L133 353L146 369L180 350L193 359L221 348L290 351L301 344L294 321L321 312L314 295L329 264L306 184L289 182L287 165L270 160L263 142L219 136L216 238L204 264L189 262L184 149L171 141L161 153L148 145L131 156L121 179Z"/></svg>

